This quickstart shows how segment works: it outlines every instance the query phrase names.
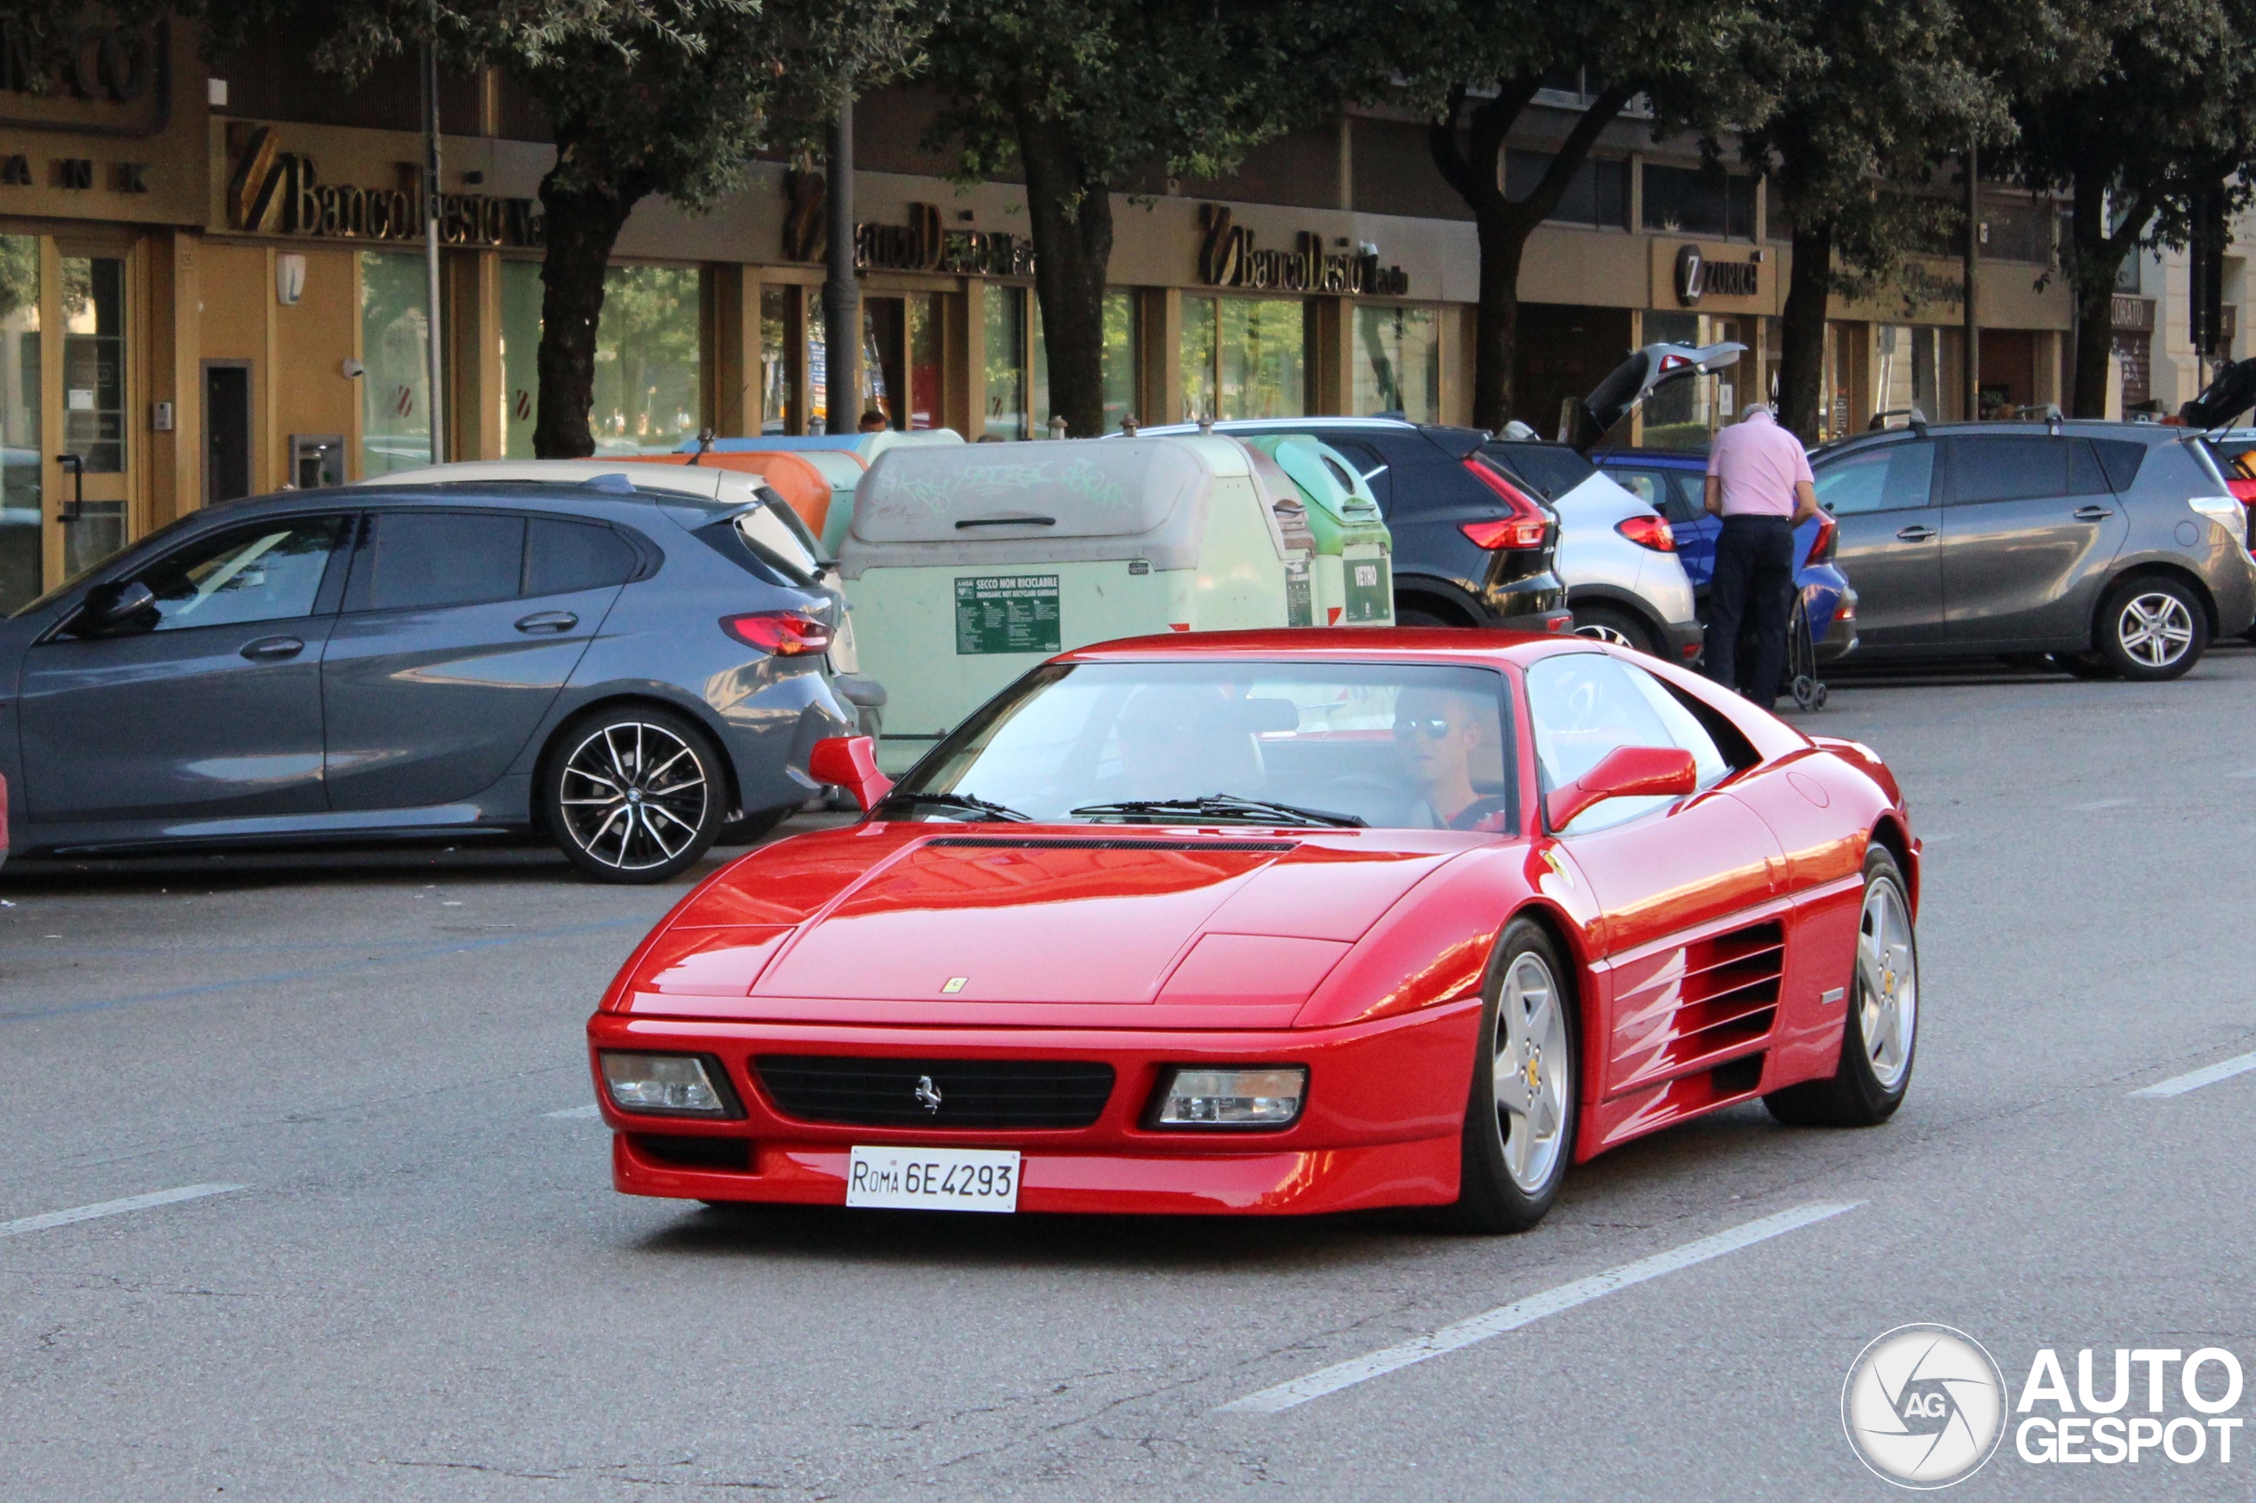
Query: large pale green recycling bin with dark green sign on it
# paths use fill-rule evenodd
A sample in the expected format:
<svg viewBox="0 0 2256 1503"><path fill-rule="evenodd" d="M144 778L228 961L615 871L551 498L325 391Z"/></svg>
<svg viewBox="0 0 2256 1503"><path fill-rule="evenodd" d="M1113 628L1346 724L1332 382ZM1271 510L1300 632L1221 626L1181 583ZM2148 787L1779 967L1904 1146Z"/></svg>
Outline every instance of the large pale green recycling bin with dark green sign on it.
<svg viewBox="0 0 2256 1503"><path fill-rule="evenodd" d="M898 773L1072 647L1286 626L1293 554L1227 437L893 446L855 487L839 572Z"/></svg>

